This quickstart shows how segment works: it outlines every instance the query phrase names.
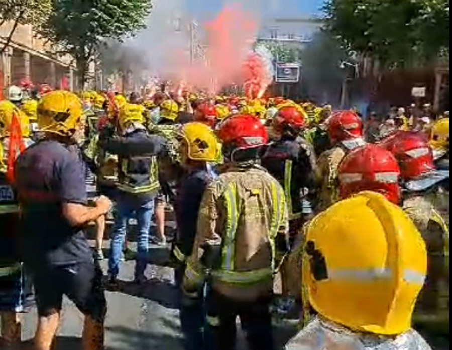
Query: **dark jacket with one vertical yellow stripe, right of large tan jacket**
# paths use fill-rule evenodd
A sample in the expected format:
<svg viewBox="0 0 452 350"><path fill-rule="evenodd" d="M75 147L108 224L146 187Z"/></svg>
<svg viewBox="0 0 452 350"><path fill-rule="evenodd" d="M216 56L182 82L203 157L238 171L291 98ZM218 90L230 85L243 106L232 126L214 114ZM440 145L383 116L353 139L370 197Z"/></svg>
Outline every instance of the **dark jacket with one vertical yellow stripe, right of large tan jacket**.
<svg viewBox="0 0 452 350"><path fill-rule="evenodd" d="M299 219L304 189L313 188L314 184L315 158L311 148L305 142L283 139L268 147L261 164L284 189L289 221Z"/></svg>

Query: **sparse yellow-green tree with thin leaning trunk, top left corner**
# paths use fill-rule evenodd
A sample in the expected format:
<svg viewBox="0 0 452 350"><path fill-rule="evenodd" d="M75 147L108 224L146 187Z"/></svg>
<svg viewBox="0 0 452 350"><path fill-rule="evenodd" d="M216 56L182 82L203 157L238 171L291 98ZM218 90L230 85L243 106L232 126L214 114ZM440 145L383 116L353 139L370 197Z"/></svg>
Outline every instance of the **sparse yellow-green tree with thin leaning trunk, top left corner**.
<svg viewBox="0 0 452 350"><path fill-rule="evenodd" d="M6 42L0 47L0 54L10 44L19 24L39 26L46 20L51 10L52 0L2 0L0 2L0 27L9 21L13 22L13 26Z"/></svg>

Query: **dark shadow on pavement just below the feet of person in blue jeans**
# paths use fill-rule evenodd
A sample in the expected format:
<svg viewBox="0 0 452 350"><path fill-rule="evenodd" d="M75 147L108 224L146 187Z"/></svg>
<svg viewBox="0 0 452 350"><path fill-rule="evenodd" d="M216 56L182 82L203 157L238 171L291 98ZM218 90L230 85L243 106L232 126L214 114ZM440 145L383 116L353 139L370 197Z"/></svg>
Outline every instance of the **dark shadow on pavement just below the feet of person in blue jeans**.
<svg viewBox="0 0 452 350"><path fill-rule="evenodd" d="M147 282L138 285L130 281L118 281L115 292L135 296L138 298L155 301L168 309L178 309L177 287L169 281L151 278Z"/></svg>

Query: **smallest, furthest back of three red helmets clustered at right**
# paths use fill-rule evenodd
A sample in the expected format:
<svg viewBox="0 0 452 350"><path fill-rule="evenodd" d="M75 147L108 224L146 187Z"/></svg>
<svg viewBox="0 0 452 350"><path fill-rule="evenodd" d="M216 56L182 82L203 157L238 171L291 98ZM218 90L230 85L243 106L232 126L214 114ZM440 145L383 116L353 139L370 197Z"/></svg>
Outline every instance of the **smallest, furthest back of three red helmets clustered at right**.
<svg viewBox="0 0 452 350"><path fill-rule="evenodd" d="M363 121L352 111L334 112L326 125L332 143L363 137Z"/></svg>

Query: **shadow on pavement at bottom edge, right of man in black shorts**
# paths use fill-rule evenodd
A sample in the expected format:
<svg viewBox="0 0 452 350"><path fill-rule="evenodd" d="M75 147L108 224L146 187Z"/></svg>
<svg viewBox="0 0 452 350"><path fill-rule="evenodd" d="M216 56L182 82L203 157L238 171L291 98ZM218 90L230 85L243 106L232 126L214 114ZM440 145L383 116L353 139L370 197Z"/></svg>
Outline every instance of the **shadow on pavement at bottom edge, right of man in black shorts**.
<svg viewBox="0 0 452 350"><path fill-rule="evenodd" d="M118 345L107 346L105 350L182 350L183 348L182 339L174 335L124 327L108 327L107 331Z"/></svg>

